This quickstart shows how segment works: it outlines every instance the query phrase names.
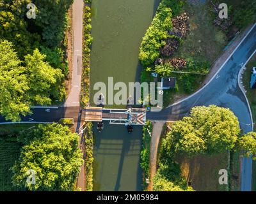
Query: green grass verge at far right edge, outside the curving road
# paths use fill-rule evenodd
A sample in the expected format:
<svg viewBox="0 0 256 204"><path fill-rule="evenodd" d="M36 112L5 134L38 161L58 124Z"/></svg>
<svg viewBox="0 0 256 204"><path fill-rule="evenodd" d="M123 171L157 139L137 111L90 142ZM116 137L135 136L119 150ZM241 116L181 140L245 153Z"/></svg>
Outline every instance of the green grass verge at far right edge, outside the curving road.
<svg viewBox="0 0 256 204"><path fill-rule="evenodd" d="M253 66L256 66L256 55L246 64L246 71L243 74L243 85L246 89L246 96L250 103L252 110L253 122L256 121L256 89L250 89L250 80L251 80L251 69ZM254 125L255 129L255 125ZM256 191L256 161L253 161L253 181L252 181L252 190Z"/></svg>

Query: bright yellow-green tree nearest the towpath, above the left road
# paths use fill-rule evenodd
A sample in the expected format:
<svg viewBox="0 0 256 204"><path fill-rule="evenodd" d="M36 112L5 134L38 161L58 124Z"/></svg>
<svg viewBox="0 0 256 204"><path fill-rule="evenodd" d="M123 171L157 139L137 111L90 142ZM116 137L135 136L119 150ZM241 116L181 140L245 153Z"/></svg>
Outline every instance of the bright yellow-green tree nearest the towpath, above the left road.
<svg viewBox="0 0 256 204"><path fill-rule="evenodd" d="M51 105L51 96L58 98L61 80L64 77L61 69L52 68L45 62L46 55L36 49L33 55L25 57L26 75L28 75L29 99L35 104Z"/></svg>

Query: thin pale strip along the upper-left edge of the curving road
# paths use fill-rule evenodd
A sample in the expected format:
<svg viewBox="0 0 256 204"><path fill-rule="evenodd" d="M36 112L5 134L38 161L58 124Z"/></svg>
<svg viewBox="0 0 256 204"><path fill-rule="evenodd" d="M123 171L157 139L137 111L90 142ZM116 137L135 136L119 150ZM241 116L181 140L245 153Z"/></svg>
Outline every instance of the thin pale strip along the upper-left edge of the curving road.
<svg viewBox="0 0 256 204"><path fill-rule="evenodd" d="M209 80L209 82L207 82L207 84L204 85L204 87L202 87L201 89L199 89L198 91L196 91L194 94L192 94L191 96L188 96L187 98L182 99L181 101L178 101L177 103L173 103L172 105L168 106L167 108L170 108L171 106L177 105L179 103L182 103L183 101L188 100L189 98L195 96L196 94L198 94L198 92L202 91L207 85L209 85L212 80L214 80L214 78L216 78L216 76L218 75L218 73L220 73L221 69L227 64L227 62L230 60L230 58L232 57L232 55L234 55L234 53L236 52L237 48L240 47L240 45L243 43L244 39L247 38L247 36L252 32L252 30L254 29L256 23L252 26L252 28L250 29L250 31L248 31L248 33L246 33L246 35L244 36L243 40L241 40L241 42L237 45L237 47L234 49L234 51L232 52L232 54L229 55L228 59L222 64L222 66L220 67L220 69L215 73L215 75L211 78L211 80Z"/></svg>

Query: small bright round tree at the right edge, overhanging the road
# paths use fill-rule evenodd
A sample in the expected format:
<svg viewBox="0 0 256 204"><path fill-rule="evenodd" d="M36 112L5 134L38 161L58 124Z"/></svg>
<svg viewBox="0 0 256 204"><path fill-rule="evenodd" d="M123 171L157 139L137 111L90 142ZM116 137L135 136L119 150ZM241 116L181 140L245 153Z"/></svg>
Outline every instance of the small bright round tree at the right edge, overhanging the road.
<svg viewBox="0 0 256 204"><path fill-rule="evenodd" d="M256 160L256 133L241 136L237 142L237 149L243 152L243 156L252 156L253 160Z"/></svg>

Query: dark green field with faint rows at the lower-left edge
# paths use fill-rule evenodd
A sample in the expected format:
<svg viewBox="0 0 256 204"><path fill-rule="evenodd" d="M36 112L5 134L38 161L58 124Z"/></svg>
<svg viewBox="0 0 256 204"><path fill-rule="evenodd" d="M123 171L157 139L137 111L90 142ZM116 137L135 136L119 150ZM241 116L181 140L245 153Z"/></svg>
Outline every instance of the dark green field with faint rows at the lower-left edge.
<svg viewBox="0 0 256 204"><path fill-rule="evenodd" d="M12 186L12 168L20 156L20 143L16 142L16 134L22 129L28 129L32 124L0 125L0 191L15 191Z"/></svg>

